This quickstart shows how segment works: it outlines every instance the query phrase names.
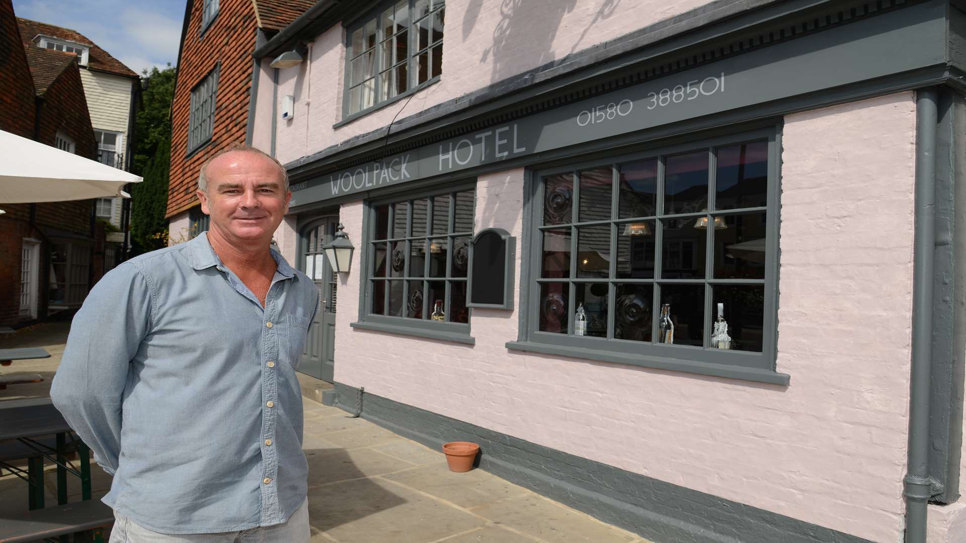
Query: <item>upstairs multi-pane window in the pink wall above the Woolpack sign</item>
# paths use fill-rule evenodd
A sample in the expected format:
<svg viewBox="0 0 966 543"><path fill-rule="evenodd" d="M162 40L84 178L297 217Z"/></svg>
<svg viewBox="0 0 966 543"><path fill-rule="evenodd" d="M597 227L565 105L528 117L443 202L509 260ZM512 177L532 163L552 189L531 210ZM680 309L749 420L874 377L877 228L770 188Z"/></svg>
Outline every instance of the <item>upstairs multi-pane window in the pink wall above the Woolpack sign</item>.
<svg viewBox="0 0 966 543"><path fill-rule="evenodd" d="M347 115L440 76L444 7L444 0L398 0L349 29Z"/></svg>

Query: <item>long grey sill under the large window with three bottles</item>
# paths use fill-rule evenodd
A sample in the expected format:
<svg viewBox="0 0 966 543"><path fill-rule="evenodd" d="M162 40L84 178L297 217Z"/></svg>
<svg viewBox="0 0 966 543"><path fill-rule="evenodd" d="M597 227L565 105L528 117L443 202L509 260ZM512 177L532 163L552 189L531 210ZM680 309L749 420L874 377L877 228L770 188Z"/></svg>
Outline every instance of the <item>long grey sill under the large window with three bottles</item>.
<svg viewBox="0 0 966 543"><path fill-rule="evenodd" d="M700 375L710 375L714 377L725 377L727 379L741 379L743 381L753 381L756 383L768 383L771 385L788 386L791 376L785 373L778 373L772 370L761 368L743 367L725 364L714 364L708 362L698 362L695 360L683 360L680 358L649 357L649 356L629 356L619 353L608 353L606 351L596 351L575 347L559 347L545 343L534 343L529 341L508 341L506 348L511 351L526 351L529 353L540 353L543 355L556 355L560 357L585 358L589 360L599 360L602 362L613 362L618 364L630 364L654 369L667 369L672 371L684 371Z"/></svg>

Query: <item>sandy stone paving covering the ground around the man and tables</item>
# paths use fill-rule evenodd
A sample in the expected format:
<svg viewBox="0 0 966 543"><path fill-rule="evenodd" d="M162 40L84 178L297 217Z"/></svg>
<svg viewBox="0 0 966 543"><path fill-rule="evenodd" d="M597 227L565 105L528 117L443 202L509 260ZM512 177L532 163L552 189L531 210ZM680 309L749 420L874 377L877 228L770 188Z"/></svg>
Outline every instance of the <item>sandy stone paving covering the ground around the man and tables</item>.
<svg viewBox="0 0 966 543"><path fill-rule="evenodd" d="M27 360L16 370L52 378L67 332L65 323L42 325L3 338L0 347L43 347L51 358ZM49 379L11 386L0 391L0 402L47 396L49 390ZM491 473L449 472L441 451L340 409L305 399L304 415L302 448L309 464L313 542L646 543ZM91 468L97 500L110 489L111 476L97 464ZM69 475L70 501L80 500L75 479ZM56 471L48 466L47 504L57 502L56 484ZM26 483L5 471L0 476L0 518L26 507Z"/></svg>

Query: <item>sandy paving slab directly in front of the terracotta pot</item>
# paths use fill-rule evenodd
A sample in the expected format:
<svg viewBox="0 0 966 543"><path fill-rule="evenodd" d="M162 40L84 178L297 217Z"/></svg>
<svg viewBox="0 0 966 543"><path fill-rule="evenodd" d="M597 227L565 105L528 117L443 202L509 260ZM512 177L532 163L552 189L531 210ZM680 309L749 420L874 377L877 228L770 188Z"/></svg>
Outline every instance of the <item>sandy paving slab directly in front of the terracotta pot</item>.
<svg viewBox="0 0 966 543"><path fill-rule="evenodd" d="M468 509L529 494L525 488L481 470L450 472L445 459L409 472L385 475L385 478Z"/></svg>

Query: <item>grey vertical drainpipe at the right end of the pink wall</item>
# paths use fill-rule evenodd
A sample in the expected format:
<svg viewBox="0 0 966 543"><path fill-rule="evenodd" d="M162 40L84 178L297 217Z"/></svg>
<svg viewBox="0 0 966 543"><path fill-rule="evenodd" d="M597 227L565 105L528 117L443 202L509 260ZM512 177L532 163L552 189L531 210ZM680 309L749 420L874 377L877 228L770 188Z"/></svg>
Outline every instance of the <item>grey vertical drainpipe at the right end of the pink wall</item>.
<svg viewBox="0 0 966 543"><path fill-rule="evenodd" d="M936 220L936 89L916 93L916 204L913 248L912 375L909 384L909 472L905 543L925 543L932 497L929 477L929 396L932 382L932 280Z"/></svg>

